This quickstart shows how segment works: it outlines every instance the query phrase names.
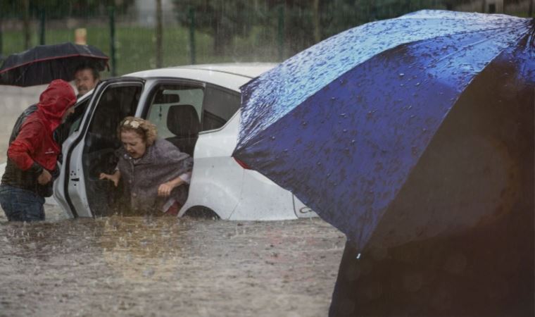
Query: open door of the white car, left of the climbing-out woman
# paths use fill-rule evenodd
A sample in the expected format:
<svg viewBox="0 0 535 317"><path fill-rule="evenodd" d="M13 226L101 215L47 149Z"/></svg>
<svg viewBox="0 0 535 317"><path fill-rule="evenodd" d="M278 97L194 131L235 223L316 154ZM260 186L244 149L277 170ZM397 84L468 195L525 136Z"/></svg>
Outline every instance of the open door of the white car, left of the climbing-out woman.
<svg viewBox="0 0 535 317"><path fill-rule="evenodd" d="M122 77L101 83L94 92L80 123L70 129L63 147L61 180L56 200L73 217L106 216L120 192L100 173L113 173L114 152L121 144L117 125L134 116L144 80Z"/></svg>

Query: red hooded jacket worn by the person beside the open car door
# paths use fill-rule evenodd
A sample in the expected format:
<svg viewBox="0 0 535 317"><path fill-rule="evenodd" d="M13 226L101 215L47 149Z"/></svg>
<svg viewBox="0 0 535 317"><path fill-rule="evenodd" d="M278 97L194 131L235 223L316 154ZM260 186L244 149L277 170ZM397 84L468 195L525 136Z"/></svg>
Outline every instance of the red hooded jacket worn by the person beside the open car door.
<svg viewBox="0 0 535 317"><path fill-rule="evenodd" d="M30 169L34 163L54 170L61 149L53 139L53 130L75 102L73 87L63 80L53 80L39 97L37 111L26 118L9 145L8 158L21 170Z"/></svg>

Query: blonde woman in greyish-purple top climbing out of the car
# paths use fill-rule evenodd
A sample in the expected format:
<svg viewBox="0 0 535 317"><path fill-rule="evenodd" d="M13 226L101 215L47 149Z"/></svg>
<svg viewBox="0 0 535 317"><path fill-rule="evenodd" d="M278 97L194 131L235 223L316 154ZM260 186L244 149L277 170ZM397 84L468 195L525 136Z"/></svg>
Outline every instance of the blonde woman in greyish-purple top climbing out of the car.
<svg viewBox="0 0 535 317"><path fill-rule="evenodd" d="M148 120L124 118L118 127L122 147L116 151L115 173L100 174L115 187L121 182L128 213L134 215L176 215L187 199L193 159L157 135Z"/></svg>

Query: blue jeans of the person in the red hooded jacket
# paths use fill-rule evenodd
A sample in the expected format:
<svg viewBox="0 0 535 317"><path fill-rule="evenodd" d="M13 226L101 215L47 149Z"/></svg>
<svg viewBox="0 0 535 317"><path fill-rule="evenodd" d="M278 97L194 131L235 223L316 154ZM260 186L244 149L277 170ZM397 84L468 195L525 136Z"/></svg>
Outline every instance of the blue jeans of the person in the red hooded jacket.
<svg viewBox="0 0 535 317"><path fill-rule="evenodd" d="M30 190L0 185L0 205L9 221L44 220L44 198Z"/></svg>

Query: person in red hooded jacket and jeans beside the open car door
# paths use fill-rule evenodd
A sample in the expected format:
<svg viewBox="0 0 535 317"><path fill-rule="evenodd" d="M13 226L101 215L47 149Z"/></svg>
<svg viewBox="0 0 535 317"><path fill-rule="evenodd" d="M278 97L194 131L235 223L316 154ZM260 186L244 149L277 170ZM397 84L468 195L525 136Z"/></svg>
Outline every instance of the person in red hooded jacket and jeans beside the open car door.
<svg viewBox="0 0 535 317"><path fill-rule="evenodd" d="M73 87L53 80L15 123L0 185L0 205L9 221L44 220L44 197L52 195L60 146L53 131L76 102Z"/></svg>

